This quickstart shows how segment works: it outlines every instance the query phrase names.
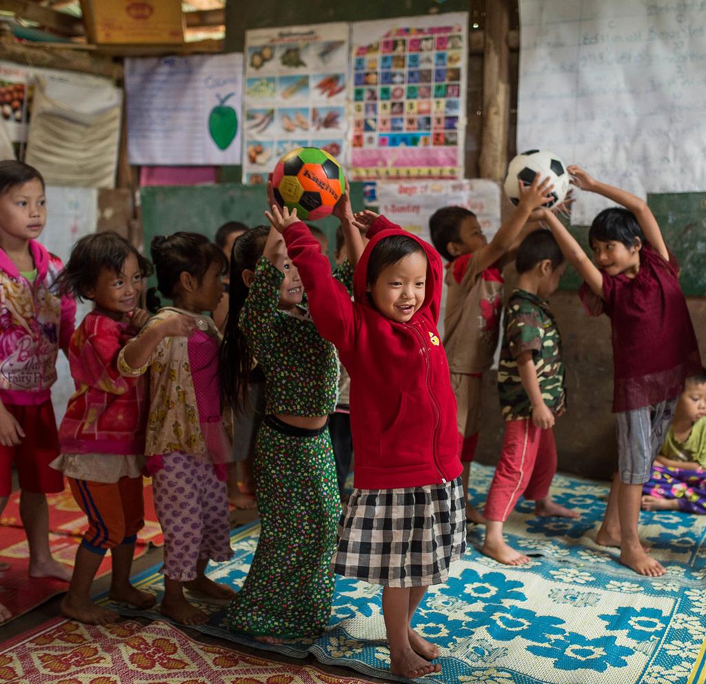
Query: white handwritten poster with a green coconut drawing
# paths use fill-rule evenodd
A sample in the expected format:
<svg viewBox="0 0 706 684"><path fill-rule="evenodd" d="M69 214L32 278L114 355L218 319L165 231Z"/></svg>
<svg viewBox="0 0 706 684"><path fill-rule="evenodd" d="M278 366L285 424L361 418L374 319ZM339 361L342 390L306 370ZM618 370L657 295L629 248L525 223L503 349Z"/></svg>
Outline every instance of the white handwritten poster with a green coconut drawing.
<svg viewBox="0 0 706 684"><path fill-rule="evenodd" d="M240 164L242 73L239 53L126 59L130 163Z"/></svg>

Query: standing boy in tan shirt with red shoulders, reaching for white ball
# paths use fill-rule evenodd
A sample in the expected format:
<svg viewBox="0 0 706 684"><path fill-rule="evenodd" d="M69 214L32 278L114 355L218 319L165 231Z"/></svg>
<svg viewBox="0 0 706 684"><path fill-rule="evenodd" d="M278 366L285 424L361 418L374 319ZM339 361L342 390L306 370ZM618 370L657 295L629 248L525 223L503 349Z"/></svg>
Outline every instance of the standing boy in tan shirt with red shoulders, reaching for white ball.
<svg viewBox="0 0 706 684"><path fill-rule="evenodd" d="M520 232L530 213L546 202L550 190L549 180L545 179L540 185L537 176L522 194L510 219L498 229L490 243L474 213L462 207L444 207L429 219L433 246L448 261L443 344L456 396L465 494L478 443L483 373L493 363L498 346L503 308L503 266L513 259L520 244ZM536 227L535 224L530 229ZM483 522L483 517L468 503L467 497L466 520Z"/></svg>

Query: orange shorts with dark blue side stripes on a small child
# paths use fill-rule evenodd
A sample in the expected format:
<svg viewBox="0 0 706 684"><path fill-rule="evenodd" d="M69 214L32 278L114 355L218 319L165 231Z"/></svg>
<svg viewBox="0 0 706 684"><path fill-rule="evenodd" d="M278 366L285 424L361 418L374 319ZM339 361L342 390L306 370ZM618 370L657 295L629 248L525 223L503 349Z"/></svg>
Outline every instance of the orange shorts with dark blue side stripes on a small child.
<svg viewBox="0 0 706 684"><path fill-rule="evenodd" d="M136 541L145 525L141 476L121 477L110 483L66 479L73 498L88 517L81 546L103 554L119 544Z"/></svg>

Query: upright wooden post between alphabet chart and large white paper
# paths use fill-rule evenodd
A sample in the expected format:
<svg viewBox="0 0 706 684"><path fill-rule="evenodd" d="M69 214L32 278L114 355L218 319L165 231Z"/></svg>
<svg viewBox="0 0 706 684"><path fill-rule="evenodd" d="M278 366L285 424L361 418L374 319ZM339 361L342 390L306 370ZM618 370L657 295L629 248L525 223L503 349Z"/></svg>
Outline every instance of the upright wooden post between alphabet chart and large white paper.
<svg viewBox="0 0 706 684"><path fill-rule="evenodd" d="M480 175L502 181L508 166L510 69L508 0L486 0Z"/></svg>

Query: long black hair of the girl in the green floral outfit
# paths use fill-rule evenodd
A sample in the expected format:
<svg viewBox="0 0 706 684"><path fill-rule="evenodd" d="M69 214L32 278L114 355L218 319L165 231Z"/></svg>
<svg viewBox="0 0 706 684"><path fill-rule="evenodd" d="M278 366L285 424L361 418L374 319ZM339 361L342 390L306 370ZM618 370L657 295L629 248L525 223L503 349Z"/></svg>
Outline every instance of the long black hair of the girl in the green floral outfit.
<svg viewBox="0 0 706 684"><path fill-rule="evenodd" d="M228 315L220 348L220 388L223 407L234 409L245 405L246 388L253 367L253 354L240 330L240 312L249 287L243 281L243 271L254 271L263 255L269 226L257 226L242 234L230 255Z"/></svg>

